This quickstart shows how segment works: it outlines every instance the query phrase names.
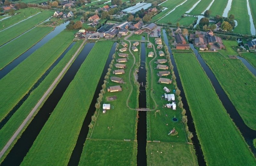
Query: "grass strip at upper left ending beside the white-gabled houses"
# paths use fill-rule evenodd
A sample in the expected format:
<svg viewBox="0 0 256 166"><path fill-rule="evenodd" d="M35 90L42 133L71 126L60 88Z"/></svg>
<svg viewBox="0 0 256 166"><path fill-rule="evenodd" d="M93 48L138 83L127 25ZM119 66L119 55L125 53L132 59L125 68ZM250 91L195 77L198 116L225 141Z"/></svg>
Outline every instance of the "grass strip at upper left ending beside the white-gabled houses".
<svg viewBox="0 0 256 166"><path fill-rule="evenodd" d="M24 32L28 31L34 26L40 24L41 22L52 16L52 14L53 11L44 10L37 14L36 16L33 16L15 26L12 26L4 30L3 32L0 33L0 46L12 40L13 38L19 36L20 34L23 34Z"/></svg>

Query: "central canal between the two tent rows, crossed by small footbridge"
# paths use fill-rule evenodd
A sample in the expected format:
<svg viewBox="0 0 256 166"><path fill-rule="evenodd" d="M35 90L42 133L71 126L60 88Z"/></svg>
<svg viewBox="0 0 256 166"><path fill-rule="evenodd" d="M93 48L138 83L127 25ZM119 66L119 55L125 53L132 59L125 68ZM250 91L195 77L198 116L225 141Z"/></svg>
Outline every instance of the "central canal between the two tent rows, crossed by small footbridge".
<svg viewBox="0 0 256 166"><path fill-rule="evenodd" d="M140 67L138 73L138 82L140 85L139 108L147 108L146 101L146 48L145 43L141 42ZM139 111L137 126L137 165L147 165L147 112Z"/></svg>

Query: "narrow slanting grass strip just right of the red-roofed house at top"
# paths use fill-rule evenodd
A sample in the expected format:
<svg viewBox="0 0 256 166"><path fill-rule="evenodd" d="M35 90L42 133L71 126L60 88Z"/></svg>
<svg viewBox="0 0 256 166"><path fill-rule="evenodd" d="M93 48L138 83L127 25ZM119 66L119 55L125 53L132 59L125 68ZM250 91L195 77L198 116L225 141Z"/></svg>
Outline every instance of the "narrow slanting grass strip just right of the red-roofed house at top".
<svg viewBox="0 0 256 166"><path fill-rule="evenodd" d="M177 5L181 4L184 1L185 0L168 0L168 1L164 2L163 4L161 4L161 6L167 7L168 9L166 9L165 11L162 11L159 14L152 17L152 22L155 22L155 21L161 19L167 13L169 13L172 9L174 9Z"/></svg>

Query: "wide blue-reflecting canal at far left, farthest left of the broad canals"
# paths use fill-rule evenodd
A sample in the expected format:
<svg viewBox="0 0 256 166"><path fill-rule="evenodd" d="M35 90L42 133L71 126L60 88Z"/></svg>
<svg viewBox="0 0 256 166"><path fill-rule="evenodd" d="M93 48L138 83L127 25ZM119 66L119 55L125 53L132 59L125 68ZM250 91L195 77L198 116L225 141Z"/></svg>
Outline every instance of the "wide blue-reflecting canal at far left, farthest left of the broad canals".
<svg viewBox="0 0 256 166"><path fill-rule="evenodd" d="M41 46L43 46L46 42L57 36L61 31L63 31L66 28L66 25L68 25L68 22L65 22L59 26L56 26L55 29L44 36L42 40L37 42L33 47L28 49L26 52L21 54L19 57L14 59L10 64L6 65L2 70L0 70L0 79L2 79L6 74L12 71L18 64L20 64L22 61L24 61L27 57L29 57L33 52L35 52L37 49L39 49Z"/></svg>

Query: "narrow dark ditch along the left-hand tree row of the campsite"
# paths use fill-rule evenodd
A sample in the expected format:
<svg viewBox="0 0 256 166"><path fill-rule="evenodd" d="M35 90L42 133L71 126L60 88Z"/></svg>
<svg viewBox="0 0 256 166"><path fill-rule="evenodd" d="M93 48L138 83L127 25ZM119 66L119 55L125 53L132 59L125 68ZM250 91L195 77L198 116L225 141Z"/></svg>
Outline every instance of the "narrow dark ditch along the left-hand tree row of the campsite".
<svg viewBox="0 0 256 166"><path fill-rule="evenodd" d="M81 127L81 130L79 132L79 135L78 135L78 138L77 138L77 141L76 141L76 146L75 148L73 149L73 152L71 154L71 157L69 159L69 162L68 162L68 165L69 166L73 166L73 165L78 165L79 164L79 161L80 161L80 157L81 157L81 154L83 152L83 147L84 147L84 143L85 143L85 140L86 140L86 137L87 137L87 134L89 132L89 127L88 125L91 123L92 119L91 117L93 116L94 112L95 112L95 104L97 102L97 98L99 96L99 93L100 93L100 90L102 89L101 85L103 84L103 81L104 81L104 77L106 75L106 73L108 72L108 66L112 60L112 55L116 52L115 49L116 49L116 44L117 42L115 42L108 54L108 59L107 59L107 62L105 64L105 67L103 69L103 72L100 76L100 80L99 80L99 83L97 85L97 88L96 88L96 91L93 95L93 99L92 99L92 102L91 102L91 105L88 109L88 112L84 118L84 122L82 124L82 127Z"/></svg>

